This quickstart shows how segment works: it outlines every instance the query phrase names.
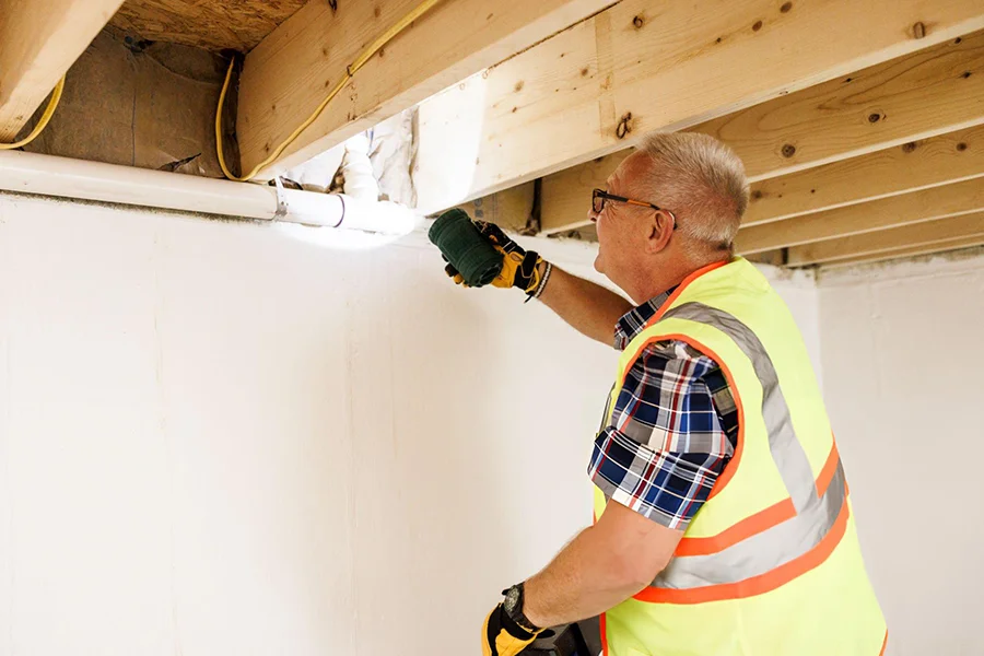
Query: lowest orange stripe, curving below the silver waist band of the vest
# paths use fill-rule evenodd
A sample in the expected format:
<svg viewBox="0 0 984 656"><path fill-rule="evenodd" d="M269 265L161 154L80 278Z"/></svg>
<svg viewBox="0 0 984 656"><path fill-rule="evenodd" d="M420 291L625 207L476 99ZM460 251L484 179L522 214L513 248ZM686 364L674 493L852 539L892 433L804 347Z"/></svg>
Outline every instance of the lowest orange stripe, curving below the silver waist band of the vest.
<svg viewBox="0 0 984 656"><path fill-rule="evenodd" d="M841 538L844 537L844 531L847 530L847 517L850 514L851 511L845 496L844 503L837 513L836 522L813 549L765 574L752 576L737 583L724 583L690 589L651 586L635 595L633 599L651 604L706 604L726 599L743 599L774 590L823 564L823 561L841 543Z"/></svg>

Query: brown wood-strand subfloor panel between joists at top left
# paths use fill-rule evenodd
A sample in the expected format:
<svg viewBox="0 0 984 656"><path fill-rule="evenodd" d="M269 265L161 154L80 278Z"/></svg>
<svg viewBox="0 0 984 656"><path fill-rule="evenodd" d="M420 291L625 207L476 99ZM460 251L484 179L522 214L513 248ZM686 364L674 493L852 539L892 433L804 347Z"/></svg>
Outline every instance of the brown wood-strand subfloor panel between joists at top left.
<svg viewBox="0 0 984 656"><path fill-rule="evenodd" d="M126 0L109 22L131 36L248 52L307 0Z"/></svg>

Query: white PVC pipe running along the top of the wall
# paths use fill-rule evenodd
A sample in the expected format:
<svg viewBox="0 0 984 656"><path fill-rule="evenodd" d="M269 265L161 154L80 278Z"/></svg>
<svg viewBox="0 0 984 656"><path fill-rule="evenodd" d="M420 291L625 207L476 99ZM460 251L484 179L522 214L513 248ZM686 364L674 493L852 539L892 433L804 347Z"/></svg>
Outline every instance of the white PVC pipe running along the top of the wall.
<svg viewBox="0 0 984 656"><path fill-rule="evenodd" d="M391 202L294 189L280 190L278 199L276 187L21 151L0 151L0 189L390 235L409 234L418 223L410 209Z"/></svg>

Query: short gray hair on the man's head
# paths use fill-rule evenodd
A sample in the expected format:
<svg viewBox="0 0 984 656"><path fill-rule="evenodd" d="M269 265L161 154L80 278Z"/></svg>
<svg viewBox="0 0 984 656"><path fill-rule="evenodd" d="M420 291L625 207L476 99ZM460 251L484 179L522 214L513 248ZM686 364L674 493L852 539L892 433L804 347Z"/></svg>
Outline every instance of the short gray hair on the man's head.
<svg viewBox="0 0 984 656"><path fill-rule="evenodd" d="M745 164L730 148L700 132L654 132L639 150L651 157L647 200L673 212L695 258L731 255L748 208Z"/></svg>

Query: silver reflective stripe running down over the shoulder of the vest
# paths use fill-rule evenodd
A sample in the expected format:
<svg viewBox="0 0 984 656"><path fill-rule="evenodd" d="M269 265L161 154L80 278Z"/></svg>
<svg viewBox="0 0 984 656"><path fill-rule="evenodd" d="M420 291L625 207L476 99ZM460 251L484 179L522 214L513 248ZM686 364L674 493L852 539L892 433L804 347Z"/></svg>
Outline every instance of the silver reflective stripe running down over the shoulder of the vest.
<svg viewBox="0 0 984 656"><path fill-rule="evenodd" d="M780 389L778 374L775 373L775 366L761 340L751 328L734 315L703 303L684 303L671 308L663 318L688 319L717 328L731 338L751 361L755 376L762 384L762 417L765 419L765 430L769 433L769 449L783 477L786 491L793 499L796 512L801 513L817 499L813 470L799 438L796 437L789 407L783 397L783 390Z"/></svg>

